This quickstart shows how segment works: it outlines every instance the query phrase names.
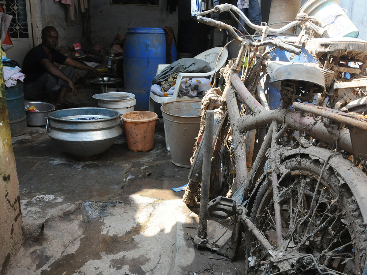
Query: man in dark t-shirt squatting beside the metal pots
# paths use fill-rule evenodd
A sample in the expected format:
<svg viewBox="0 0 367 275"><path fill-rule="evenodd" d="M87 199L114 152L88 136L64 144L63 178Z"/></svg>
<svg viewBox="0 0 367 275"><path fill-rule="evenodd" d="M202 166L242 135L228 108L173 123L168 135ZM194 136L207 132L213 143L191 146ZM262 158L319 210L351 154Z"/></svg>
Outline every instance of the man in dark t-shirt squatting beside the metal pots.
<svg viewBox="0 0 367 275"><path fill-rule="evenodd" d="M73 60L59 53L55 48L59 34L55 27L44 27L41 33L42 43L26 54L22 72L26 75L24 94L29 100L44 100L56 105L58 109L67 105L65 94L71 90L76 96L77 89L73 83L75 69L88 70L101 77L98 70ZM59 69L54 62L67 65Z"/></svg>

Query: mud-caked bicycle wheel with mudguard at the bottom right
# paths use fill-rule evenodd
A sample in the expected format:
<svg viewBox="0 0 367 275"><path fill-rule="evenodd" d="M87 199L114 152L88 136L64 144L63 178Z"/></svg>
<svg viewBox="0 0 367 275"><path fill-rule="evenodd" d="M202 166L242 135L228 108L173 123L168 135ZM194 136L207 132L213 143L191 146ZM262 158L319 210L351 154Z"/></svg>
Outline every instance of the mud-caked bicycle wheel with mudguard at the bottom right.
<svg viewBox="0 0 367 275"><path fill-rule="evenodd" d="M283 155L278 165L283 240L277 241L269 180L251 212L252 221L278 253L278 261L247 233L247 274L364 274L366 175L333 155L319 180L333 152L317 147L288 151L293 153Z"/></svg>

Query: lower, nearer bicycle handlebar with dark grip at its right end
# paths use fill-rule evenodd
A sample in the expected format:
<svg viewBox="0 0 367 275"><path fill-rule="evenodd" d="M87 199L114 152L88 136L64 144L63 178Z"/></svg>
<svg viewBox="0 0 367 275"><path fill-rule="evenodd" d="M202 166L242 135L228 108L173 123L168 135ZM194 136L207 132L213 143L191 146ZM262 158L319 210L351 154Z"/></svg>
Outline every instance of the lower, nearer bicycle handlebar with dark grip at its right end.
<svg viewBox="0 0 367 275"><path fill-rule="evenodd" d="M227 5L229 5L229 4L227 4ZM232 6L232 5L230 5L230 6ZM208 26L217 27L219 29L226 29L237 41L239 41L241 43L244 43L246 45L250 45L250 46L254 46L254 47L273 45L273 46L276 46L280 49L284 49L287 52L291 52L292 54L297 54L297 55L301 54L301 49L297 49L297 48L293 47L292 45L288 45L288 44L286 44L282 41L265 40L265 41L262 41L262 42L252 42L251 40L248 40L246 38L241 38L235 32L235 30L232 28L232 26L229 26L226 23L223 23L221 21L217 21L217 20L207 18L207 17L198 16L197 17L197 22L204 23Z"/></svg>

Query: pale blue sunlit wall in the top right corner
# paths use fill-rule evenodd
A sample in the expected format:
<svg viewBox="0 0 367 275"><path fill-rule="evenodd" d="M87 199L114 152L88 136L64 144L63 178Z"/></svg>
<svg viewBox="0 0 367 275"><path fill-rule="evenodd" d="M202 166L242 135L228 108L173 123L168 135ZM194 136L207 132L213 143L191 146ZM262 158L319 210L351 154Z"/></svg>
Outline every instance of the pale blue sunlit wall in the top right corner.
<svg viewBox="0 0 367 275"><path fill-rule="evenodd" d="M359 30L358 38L367 40L366 0L339 0L339 6L346 9L346 15Z"/></svg>

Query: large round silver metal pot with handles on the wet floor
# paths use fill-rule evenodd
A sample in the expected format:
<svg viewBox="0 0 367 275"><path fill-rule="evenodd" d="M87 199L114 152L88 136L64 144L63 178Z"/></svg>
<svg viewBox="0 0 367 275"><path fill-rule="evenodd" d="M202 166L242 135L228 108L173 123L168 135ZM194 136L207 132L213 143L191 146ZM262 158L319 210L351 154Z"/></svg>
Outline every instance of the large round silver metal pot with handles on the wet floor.
<svg viewBox="0 0 367 275"><path fill-rule="evenodd" d="M78 157L106 151L121 135L121 124L120 113L105 108L64 109L46 117L48 136L64 151Z"/></svg>

